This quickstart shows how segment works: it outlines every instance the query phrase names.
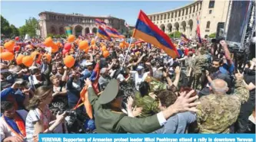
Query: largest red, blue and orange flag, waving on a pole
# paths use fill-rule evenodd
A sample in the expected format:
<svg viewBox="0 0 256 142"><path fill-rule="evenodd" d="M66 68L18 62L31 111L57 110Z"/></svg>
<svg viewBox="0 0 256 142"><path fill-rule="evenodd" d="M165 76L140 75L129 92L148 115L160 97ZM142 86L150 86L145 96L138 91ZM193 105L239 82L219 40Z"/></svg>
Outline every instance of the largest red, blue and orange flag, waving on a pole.
<svg viewBox="0 0 256 142"><path fill-rule="evenodd" d="M143 11L139 12L132 37L154 44L156 47L165 50L165 53L167 53L168 56L173 58L178 56L176 47L172 44L170 37L153 24Z"/></svg>

